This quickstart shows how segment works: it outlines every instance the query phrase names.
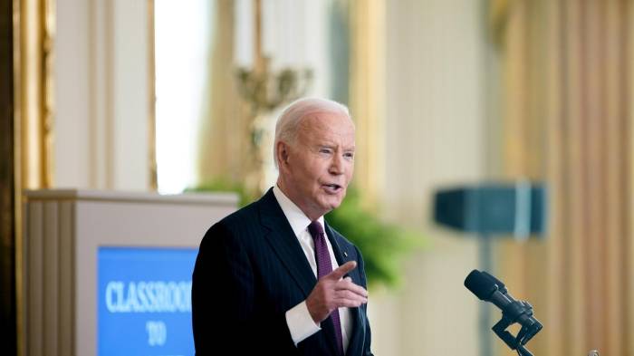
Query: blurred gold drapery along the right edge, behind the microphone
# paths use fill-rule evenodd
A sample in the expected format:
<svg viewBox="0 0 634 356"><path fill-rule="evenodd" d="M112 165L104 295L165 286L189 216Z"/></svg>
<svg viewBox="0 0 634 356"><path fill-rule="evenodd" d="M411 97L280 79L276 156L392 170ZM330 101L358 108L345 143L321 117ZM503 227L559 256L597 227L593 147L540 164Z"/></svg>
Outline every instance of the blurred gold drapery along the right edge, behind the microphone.
<svg viewBox="0 0 634 356"><path fill-rule="evenodd" d="M544 324L535 354L633 354L632 5L518 0L505 16L504 171L547 182L550 226L501 244L501 278Z"/></svg>

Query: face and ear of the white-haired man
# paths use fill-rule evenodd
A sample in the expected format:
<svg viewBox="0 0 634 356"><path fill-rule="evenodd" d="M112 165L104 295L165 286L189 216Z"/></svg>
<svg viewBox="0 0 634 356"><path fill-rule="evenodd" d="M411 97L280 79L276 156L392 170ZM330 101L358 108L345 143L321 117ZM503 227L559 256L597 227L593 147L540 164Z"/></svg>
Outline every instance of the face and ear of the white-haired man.
<svg viewBox="0 0 634 356"><path fill-rule="evenodd" d="M281 145L282 147L280 147ZM303 118L296 140L281 142L280 188L311 220L341 205L354 170L354 125L345 115Z"/></svg>

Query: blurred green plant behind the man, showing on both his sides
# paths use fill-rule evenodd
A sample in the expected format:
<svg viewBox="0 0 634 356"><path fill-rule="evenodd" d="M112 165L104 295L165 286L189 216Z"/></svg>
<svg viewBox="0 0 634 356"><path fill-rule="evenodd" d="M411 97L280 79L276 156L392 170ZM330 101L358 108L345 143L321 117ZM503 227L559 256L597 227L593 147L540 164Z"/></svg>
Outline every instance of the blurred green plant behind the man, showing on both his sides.
<svg viewBox="0 0 634 356"><path fill-rule="evenodd" d="M186 191L233 191L240 197L240 207L254 201L239 183L216 179ZM416 248L425 245L425 238L418 232L404 229L383 221L377 214L362 207L360 193L348 188L340 207L324 216L328 224L359 247L365 261L365 271L371 286L397 287L401 281L401 264Z"/></svg>

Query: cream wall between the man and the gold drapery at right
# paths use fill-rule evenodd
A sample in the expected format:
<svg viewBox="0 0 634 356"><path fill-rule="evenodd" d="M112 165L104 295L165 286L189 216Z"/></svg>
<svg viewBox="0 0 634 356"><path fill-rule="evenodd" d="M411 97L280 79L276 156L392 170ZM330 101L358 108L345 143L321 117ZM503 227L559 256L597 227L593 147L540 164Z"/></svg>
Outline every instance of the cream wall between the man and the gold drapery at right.
<svg viewBox="0 0 634 356"><path fill-rule="evenodd" d="M435 227L430 201L436 188L486 176L483 5L387 5L385 215L422 228L432 244L408 262L401 291L371 300L376 354L477 354L478 301L463 286L477 246Z"/></svg>

